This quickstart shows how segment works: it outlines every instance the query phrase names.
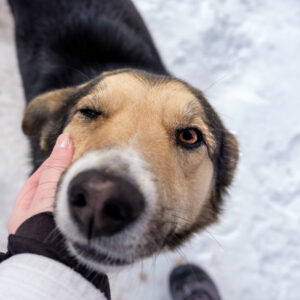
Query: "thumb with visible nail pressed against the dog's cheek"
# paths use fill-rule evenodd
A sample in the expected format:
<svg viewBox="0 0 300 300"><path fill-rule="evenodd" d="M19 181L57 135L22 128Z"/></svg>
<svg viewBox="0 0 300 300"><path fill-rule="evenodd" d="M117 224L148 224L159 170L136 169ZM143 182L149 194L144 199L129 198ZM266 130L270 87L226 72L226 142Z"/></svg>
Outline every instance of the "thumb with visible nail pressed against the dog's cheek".
<svg viewBox="0 0 300 300"><path fill-rule="evenodd" d="M50 157L41 171L36 195L32 205L38 210L53 210L57 183L62 173L71 165L74 147L67 134L58 137Z"/></svg>

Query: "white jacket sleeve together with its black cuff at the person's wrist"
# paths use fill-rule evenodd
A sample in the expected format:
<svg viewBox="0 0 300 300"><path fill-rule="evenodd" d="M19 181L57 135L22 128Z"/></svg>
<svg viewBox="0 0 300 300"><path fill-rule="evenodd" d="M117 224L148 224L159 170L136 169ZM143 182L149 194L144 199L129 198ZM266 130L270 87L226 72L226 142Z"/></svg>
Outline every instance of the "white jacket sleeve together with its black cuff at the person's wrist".
<svg viewBox="0 0 300 300"><path fill-rule="evenodd" d="M86 292L88 287L92 287L91 293L94 290L98 292L97 299L110 299L107 276L88 269L76 258L70 256L66 250L64 238L55 226L52 213L41 213L31 217L18 228L14 235L10 235L8 251L0 254L0 262L2 262L0 264L0 299L27 299L23 298L24 294L22 297L15 298L9 298L10 294L7 294L7 297L1 297L4 291L6 293L20 292L19 286L28 291L29 296L31 289L33 289L32 293L43 295L39 299L48 299L41 294L42 291L51 294L52 299L77 299L71 294L64 298L56 296L55 293L60 295L59 293L67 293L69 290L80 295L79 292ZM47 278L49 281L46 280ZM15 288L12 289L12 287ZM86 299L96 299L90 297ZM28 299L38 298L29 297Z"/></svg>

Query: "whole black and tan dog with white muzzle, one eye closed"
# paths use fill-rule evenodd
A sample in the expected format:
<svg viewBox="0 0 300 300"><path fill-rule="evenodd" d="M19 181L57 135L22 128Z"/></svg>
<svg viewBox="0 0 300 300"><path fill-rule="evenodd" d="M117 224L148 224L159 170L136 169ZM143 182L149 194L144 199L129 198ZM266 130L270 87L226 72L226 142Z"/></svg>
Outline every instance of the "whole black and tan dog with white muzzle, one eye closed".
<svg viewBox="0 0 300 300"><path fill-rule="evenodd" d="M165 68L130 0L9 0L34 169L61 133L72 165L55 220L94 270L172 250L215 222L238 143Z"/></svg>

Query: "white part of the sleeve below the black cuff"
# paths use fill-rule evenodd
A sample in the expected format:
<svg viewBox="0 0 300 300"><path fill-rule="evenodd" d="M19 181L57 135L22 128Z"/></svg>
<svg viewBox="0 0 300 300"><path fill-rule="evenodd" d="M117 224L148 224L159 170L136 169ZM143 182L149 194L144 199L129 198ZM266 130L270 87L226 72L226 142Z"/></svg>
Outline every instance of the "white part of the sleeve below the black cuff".
<svg viewBox="0 0 300 300"><path fill-rule="evenodd" d="M53 259L19 254L0 264L0 299L106 300L93 284Z"/></svg>

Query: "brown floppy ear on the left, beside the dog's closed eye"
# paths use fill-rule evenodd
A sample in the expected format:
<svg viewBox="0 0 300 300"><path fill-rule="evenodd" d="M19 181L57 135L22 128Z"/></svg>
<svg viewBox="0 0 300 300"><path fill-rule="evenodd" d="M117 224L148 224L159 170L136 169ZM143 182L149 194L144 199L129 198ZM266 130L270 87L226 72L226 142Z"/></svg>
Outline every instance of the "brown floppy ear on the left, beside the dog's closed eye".
<svg viewBox="0 0 300 300"><path fill-rule="evenodd" d="M27 136L41 136L53 117L66 105L75 88L65 88L44 93L27 106L22 128Z"/></svg>

